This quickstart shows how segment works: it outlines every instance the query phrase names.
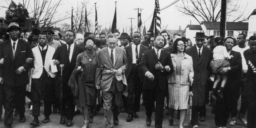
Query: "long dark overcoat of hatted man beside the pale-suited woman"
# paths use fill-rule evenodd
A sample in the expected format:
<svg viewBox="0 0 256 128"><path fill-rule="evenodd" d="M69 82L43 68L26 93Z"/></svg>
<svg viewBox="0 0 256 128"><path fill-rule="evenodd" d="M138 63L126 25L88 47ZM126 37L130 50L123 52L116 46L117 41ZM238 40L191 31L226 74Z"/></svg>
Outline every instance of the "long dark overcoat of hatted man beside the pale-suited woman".
<svg viewBox="0 0 256 128"><path fill-rule="evenodd" d="M194 70L194 82L192 84L192 105L193 106L205 106L205 84L207 79L212 74L210 62L212 61L211 49L203 46L201 57L199 58L196 45L186 49L186 53L192 57L193 70Z"/></svg>

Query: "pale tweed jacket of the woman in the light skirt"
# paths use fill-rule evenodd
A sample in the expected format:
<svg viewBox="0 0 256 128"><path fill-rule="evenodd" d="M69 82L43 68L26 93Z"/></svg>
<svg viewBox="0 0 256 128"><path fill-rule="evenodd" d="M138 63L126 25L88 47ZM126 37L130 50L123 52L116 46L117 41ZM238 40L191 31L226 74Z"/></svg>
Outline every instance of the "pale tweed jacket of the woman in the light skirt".
<svg viewBox="0 0 256 128"><path fill-rule="evenodd" d="M184 53L184 58L181 60L181 79L176 79L176 57L177 54L171 54L173 72L168 75L168 83L177 83L179 80L182 85L190 85L189 77L194 77L192 57Z"/></svg>

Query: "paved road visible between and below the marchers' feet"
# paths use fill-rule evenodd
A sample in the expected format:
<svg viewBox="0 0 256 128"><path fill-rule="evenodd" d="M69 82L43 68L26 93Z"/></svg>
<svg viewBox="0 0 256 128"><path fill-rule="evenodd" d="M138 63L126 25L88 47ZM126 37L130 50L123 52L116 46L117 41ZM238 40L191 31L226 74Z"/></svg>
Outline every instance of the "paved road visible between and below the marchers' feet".
<svg viewBox="0 0 256 128"><path fill-rule="evenodd" d="M238 102L239 103L239 102ZM238 106L239 108L240 106ZM200 127L201 128L216 128L214 124L214 115L210 113L210 110L212 109L211 106L207 105L207 112L206 112L206 121L205 122L200 122ZM166 110L164 111L166 113ZM60 121L60 114L52 114L50 116L51 121L47 124L42 123L42 120L44 118L43 115L43 107L41 107L41 116L39 117L40 120L40 126L37 128L64 128L66 127L65 125L61 125L59 123ZM137 113L139 115L138 119L135 119L132 122L126 122L126 113L121 113L119 115L119 125L115 126L115 128L154 128L154 113L152 115L152 124L151 126L146 126L146 114L145 114L145 107L141 106L141 111ZM174 115L177 115L177 111L174 113ZM29 115L29 109L27 108L26 105L26 122L25 123L19 123L19 117L14 117L13 119L13 128L33 128L29 124L33 120L32 115ZM94 117L94 122L93 124L90 124L90 128L105 128L105 121L104 121L104 113L103 109L99 111L99 113ZM3 122L3 115L2 115L2 120L0 121L0 128L4 127L4 122ZM175 117L174 117L175 118ZM230 122L230 119L229 119ZM82 115L76 115L73 119L73 127L70 128L81 128L83 125L83 116ZM192 126L190 125L189 121L189 111L187 112L187 117L185 121L185 128L191 128ZM179 127L179 120L174 119L174 126L169 126L168 125L168 115L164 115L163 118L163 128L178 128ZM240 121L238 121L238 125L236 126L230 126L227 124L227 128L246 128L241 125Z"/></svg>

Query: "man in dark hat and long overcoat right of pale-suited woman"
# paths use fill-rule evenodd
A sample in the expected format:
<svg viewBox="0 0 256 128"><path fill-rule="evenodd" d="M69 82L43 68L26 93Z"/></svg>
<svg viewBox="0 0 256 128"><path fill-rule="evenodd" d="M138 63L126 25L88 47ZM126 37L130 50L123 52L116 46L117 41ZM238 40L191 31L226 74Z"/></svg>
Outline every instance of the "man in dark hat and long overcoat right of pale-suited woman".
<svg viewBox="0 0 256 128"><path fill-rule="evenodd" d="M191 124L193 128L199 128L199 111L205 108L205 84L212 71L210 67L212 51L203 46L203 42L207 38L205 33L197 32L194 38L196 38L196 45L186 49L186 53L192 57L194 69Z"/></svg>

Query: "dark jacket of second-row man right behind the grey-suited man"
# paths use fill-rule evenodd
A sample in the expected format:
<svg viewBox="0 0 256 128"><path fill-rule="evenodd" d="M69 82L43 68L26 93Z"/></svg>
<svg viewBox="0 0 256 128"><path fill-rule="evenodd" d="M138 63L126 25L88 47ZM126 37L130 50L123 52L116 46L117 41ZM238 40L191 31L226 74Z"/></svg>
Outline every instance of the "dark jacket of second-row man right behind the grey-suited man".
<svg viewBox="0 0 256 128"><path fill-rule="evenodd" d="M126 46L124 49L126 50L126 57L127 57L127 61L128 61L127 70L125 72L125 76L126 76L126 79L127 79L128 76L130 75L130 71L132 69L132 45ZM148 47L146 47L144 45L140 45L140 48L139 48L139 62L141 62L141 58L142 58L142 55L143 55L144 51L148 51ZM141 80L143 79L143 76L144 76L143 74L139 73L139 78Z"/></svg>

